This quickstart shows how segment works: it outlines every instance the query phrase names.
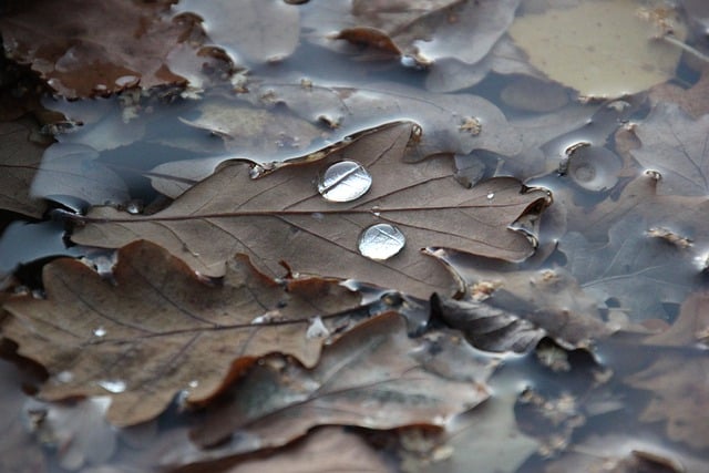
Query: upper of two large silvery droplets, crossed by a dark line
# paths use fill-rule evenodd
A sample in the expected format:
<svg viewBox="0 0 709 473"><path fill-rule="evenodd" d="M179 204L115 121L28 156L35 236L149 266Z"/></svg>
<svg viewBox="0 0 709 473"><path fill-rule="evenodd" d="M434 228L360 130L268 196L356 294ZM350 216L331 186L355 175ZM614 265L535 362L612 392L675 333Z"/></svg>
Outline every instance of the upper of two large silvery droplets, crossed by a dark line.
<svg viewBox="0 0 709 473"><path fill-rule="evenodd" d="M354 161L340 161L327 168L318 179L318 192L331 202L351 202L369 191L372 176Z"/></svg>

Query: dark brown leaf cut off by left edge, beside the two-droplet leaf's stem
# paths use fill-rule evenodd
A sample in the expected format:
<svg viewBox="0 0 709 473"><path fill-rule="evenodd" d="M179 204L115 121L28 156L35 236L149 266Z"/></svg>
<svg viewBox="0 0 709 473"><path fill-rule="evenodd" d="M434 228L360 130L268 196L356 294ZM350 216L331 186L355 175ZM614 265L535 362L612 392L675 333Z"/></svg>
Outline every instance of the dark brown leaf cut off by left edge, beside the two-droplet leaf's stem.
<svg viewBox="0 0 709 473"><path fill-rule="evenodd" d="M34 143L37 126L28 122L0 123L0 208L40 217L44 202L30 196L30 184L42 160L44 147Z"/></svg>

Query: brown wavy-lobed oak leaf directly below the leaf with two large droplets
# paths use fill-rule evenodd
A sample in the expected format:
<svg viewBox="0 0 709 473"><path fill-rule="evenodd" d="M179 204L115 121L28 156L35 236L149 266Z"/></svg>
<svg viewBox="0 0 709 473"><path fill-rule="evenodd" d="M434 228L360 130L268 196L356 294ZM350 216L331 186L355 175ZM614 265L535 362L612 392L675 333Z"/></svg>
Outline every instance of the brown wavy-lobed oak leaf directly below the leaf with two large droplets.
<svg viewBox="0 0 709 473"><path fill-rule="evenodd" d="M228 263L222 284L206 284L143 241L120 250L114 278L55 260L43 270L47 299L6 304L13 317L2 332L50 372L42 399L111 395L116 425L156 417L178 391L204 401L266 353L312 366L323 338L306 336L309 317L358 306L335 281L297 280L285 291L244 256Z"/></svg>

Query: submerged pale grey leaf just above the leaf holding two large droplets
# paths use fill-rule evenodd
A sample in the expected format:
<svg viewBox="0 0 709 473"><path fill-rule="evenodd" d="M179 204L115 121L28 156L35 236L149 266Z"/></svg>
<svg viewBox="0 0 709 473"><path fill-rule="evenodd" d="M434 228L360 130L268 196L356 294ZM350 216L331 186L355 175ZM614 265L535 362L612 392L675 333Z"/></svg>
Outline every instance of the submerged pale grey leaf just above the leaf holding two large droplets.
<svg viewBox="0 0 709 473"><path fill-rule="evenodd" d="M469 154L486 150L504 156L522 151L518 132L492 102L473 94L438 94L391 83L366 88L331 88L314 84L263 84L257 105L282 103L306 120L319 120L354 133L373 124L414 121L422 133L407 153L420 161L442 153ZM465 127L466 121L477 126Z"/></svg>

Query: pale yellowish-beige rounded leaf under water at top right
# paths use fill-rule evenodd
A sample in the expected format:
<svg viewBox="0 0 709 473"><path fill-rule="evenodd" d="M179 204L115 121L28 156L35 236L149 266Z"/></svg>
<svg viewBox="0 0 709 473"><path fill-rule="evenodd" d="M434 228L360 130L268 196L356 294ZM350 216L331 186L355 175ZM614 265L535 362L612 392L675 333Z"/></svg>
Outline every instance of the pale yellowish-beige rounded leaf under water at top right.
<svg viewBox="0 0 709 473"><path fill-rule="evenodd" d="M617 97L648 89L675 75L681 50L633 0L580 2L525 14L510 35L532 65L586 96ZM685 29L675 19L672 34ZM668 21L670 21L668 19Z"/></svg>

